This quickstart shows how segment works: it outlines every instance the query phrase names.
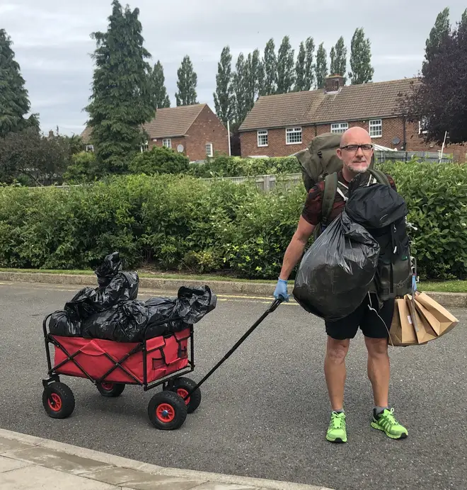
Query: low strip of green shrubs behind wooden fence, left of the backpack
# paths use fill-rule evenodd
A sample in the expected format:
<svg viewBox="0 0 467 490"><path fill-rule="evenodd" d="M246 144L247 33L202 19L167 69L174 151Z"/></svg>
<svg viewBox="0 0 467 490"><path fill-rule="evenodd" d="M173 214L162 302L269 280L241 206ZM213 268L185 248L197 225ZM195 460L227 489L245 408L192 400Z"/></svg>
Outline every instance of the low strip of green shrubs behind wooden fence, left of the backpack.
<svg viewBox="0 0 467 490"><path fill-rule="evenodd" d="M240 158L216 156L205 164L191 164L190 174L195 177L250 177L278 173L299 173L299 161L295 157Z"/></svg>

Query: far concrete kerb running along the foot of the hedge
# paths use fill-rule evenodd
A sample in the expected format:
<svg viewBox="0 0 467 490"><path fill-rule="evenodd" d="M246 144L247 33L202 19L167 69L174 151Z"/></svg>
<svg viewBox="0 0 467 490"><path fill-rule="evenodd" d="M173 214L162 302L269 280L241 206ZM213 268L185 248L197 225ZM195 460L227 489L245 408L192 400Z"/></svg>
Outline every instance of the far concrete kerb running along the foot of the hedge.
<svg viewBox="0 0 467 490"><path fill-rule="evenodd" d="M47 273L22 273L22 272L0 272L0 281L11 283L42 283L56 285L96 285L96 278L93 275L74 275L74 274L47 274ZM164 278L140 278L139 286L146 290L169 290L176 291L181 286L200 286L207 284L211 289L219 294L242 294L242 295L263 295L272 297L275 285L270 283L237 283L234 281L221 280L178 280ZM427 295L432 297L443 307L467 308L467 293L465 292L429 292Z"/></svg>

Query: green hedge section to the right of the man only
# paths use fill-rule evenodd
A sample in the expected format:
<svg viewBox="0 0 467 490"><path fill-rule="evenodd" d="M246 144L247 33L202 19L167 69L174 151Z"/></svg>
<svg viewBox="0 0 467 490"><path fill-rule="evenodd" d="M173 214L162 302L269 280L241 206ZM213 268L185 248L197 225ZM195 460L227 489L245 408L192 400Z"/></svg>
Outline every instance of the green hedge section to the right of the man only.
<svg viewBox="0 0 467 490"><path fill-rule="evenodd" d="M465 278L467 273L467 164L412 161L386 164L405 198L420 273Z"/></svg>

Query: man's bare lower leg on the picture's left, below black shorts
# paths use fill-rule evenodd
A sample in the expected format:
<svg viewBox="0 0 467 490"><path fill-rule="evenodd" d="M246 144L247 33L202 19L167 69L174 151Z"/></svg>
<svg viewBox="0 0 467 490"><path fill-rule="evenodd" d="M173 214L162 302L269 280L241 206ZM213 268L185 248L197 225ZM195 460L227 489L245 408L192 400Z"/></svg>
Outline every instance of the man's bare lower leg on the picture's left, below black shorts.
<svg viewBox="0 0 467 490"><path fill-rule="evenodd" d="M342 410L344 408L345 389L345 356L349 351L350 340L337 341L328 336L326 355L324 360L324 374L331 408Z"/></svg>

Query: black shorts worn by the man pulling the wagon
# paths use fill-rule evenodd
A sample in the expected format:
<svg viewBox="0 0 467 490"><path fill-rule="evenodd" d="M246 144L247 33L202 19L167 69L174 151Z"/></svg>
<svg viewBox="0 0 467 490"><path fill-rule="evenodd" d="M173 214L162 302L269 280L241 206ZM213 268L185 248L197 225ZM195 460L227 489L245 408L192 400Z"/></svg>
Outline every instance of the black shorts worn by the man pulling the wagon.
<svg viewBox="0 0 467 490"><path fill-rule="evenodd" d="M394 300L385 301L379 310L378 306L376 295L367 295L362 304L347 317L338 321L326 321L326 334L342 341L346 338L354 338L360 327L366 337L388 337L393 321Z"/></svg>

